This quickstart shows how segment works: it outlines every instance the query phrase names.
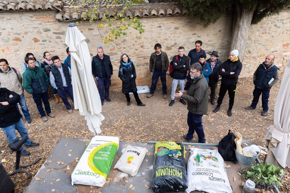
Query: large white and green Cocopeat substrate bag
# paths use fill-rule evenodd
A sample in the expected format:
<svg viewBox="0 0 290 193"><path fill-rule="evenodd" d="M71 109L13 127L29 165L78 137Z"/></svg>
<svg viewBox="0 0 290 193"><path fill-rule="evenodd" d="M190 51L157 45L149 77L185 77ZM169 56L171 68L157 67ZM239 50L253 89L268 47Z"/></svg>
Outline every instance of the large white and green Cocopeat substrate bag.
<svg viewBox="0 0 290 193"><path fill-rule="evenodd" d="M94 136L71 174L72 185L105 184L119 146L119 138Z"/></svg>

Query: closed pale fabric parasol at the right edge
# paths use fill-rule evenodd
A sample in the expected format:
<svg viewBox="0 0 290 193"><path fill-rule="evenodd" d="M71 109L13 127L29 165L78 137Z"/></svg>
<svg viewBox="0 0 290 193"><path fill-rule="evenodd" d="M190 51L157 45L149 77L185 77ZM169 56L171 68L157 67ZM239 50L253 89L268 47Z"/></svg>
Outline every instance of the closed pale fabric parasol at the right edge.
<svg viewBox="0 0 290 193"><path fill-rule="evenodd" d="M268 128L265 139L266 146L275 159L267 156L266 161L275 164L277 161L283 168L290 165L290 60L288 61L274 108L274 125Z"/></svg>

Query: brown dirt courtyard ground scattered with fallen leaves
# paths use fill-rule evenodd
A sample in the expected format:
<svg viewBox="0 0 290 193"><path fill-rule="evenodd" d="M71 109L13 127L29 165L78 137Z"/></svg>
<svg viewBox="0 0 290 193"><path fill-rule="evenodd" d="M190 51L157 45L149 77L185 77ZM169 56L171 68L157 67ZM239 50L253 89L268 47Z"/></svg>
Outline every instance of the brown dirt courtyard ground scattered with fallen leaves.
<svg viewBox="0 0 290 193"><path fill-rule="evenodd" d="M215 105L209 103L208 114L202 117L206 143L218 143L227 134L228 130L231 129L234 133L240 132L243 135L243 139L249 139L258 145L264 146L264 136L267 133L267 128L273 124L274 105L280 82L271 89L269 112L266 117L261 116L261 101L259 101L255 110L247 111L244 109L251 104L254 88L252 78L239 79L233 116L229 117L226 114L229 103L227 95L218 113L212 112ZM157 88L154 96L150 99L146 97L147 94L139 95L141 101L146 104L145 107L137 106L133 95L131 97L131 106L127 106L124 94L120 91L110 92L112 102L108 103L105 101L102 108L102 114L105 116L105 119L102 122L101 135L118 136L120 141L128 142L184 142L185 140L182 139L182 135L186 134L188 130L186 123L188 111L186 105L183 105L178 101L179 99L176 99L175 104L169 107L171 87L168 88L167 99L162 97L160 82L158 82ZM218 91L219 86L217 94ZM73 110L73 114L68 114L64 104L56 104L51 98L52 112L56 116L55 118L48 117L48 121L43 122L39 117L32 96L26 93L26 99L33 122L31 124L27 124L26 120L24 122L28 128L30 139L40 143L40 146L37 148L27 149L31 152L31 156L21 157L23 165L33 162L38 157L41 158L39 163L27 168L32 175L36 174L49 156L59 137L65 136L80 139L90 139L93 137L93 134L86 127L84 117L80 116L77 110ZM197 135L195 134L194 137L194 142L197 142ZM9 154L10 151L7 147L8 140L3 131L1 131L0 139L0 150L5 150L5 153L0 155L0 158L8 160L3 165L9 173L14 168L15 154ZM23 192L30 182L30 180L27 180L26 174L23 173L12 176L12 180L16 184L16 192ZM289 182L286 182L285 187L289 188ZM290 192L290 189L284 189L284 191Z"/></svg>

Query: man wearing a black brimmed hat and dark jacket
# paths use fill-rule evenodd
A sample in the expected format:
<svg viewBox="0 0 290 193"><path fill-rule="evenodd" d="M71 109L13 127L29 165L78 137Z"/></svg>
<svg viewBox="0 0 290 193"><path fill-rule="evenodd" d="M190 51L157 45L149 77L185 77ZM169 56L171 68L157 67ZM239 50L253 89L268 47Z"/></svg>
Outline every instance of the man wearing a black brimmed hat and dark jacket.
<svg viewBox="0 0 290 193"><path fill-rule="evenodd" d="M209 75L209 88L211 88L211 104L215 104L215 89L218 85L218 79L220 76L220 66L222 65L222 61L218 59L219 55L217 51L211 52L211 57L206 61L209 63L211 67L211 74Z"/></svg>

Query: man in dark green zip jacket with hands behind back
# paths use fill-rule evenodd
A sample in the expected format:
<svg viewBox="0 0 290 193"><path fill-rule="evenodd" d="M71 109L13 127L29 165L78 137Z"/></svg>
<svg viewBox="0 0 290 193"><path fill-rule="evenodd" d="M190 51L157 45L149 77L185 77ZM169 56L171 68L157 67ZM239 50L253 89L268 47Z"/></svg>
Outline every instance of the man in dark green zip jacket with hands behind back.
<svg viewBox="0 0 290 193"><path fill-rule="evenodd" d="M26 58L25 62L28 64L28 68L23 73L23 88L26 90L26 92L32 94L33 100L36 103L42 120L48 121L42 107L42 101L44 103L44 108L47 115L50 117L55 117L55 115L50 110L50 104L48 101L48 77L42 68L35 65L34 59Z"/></svg>

